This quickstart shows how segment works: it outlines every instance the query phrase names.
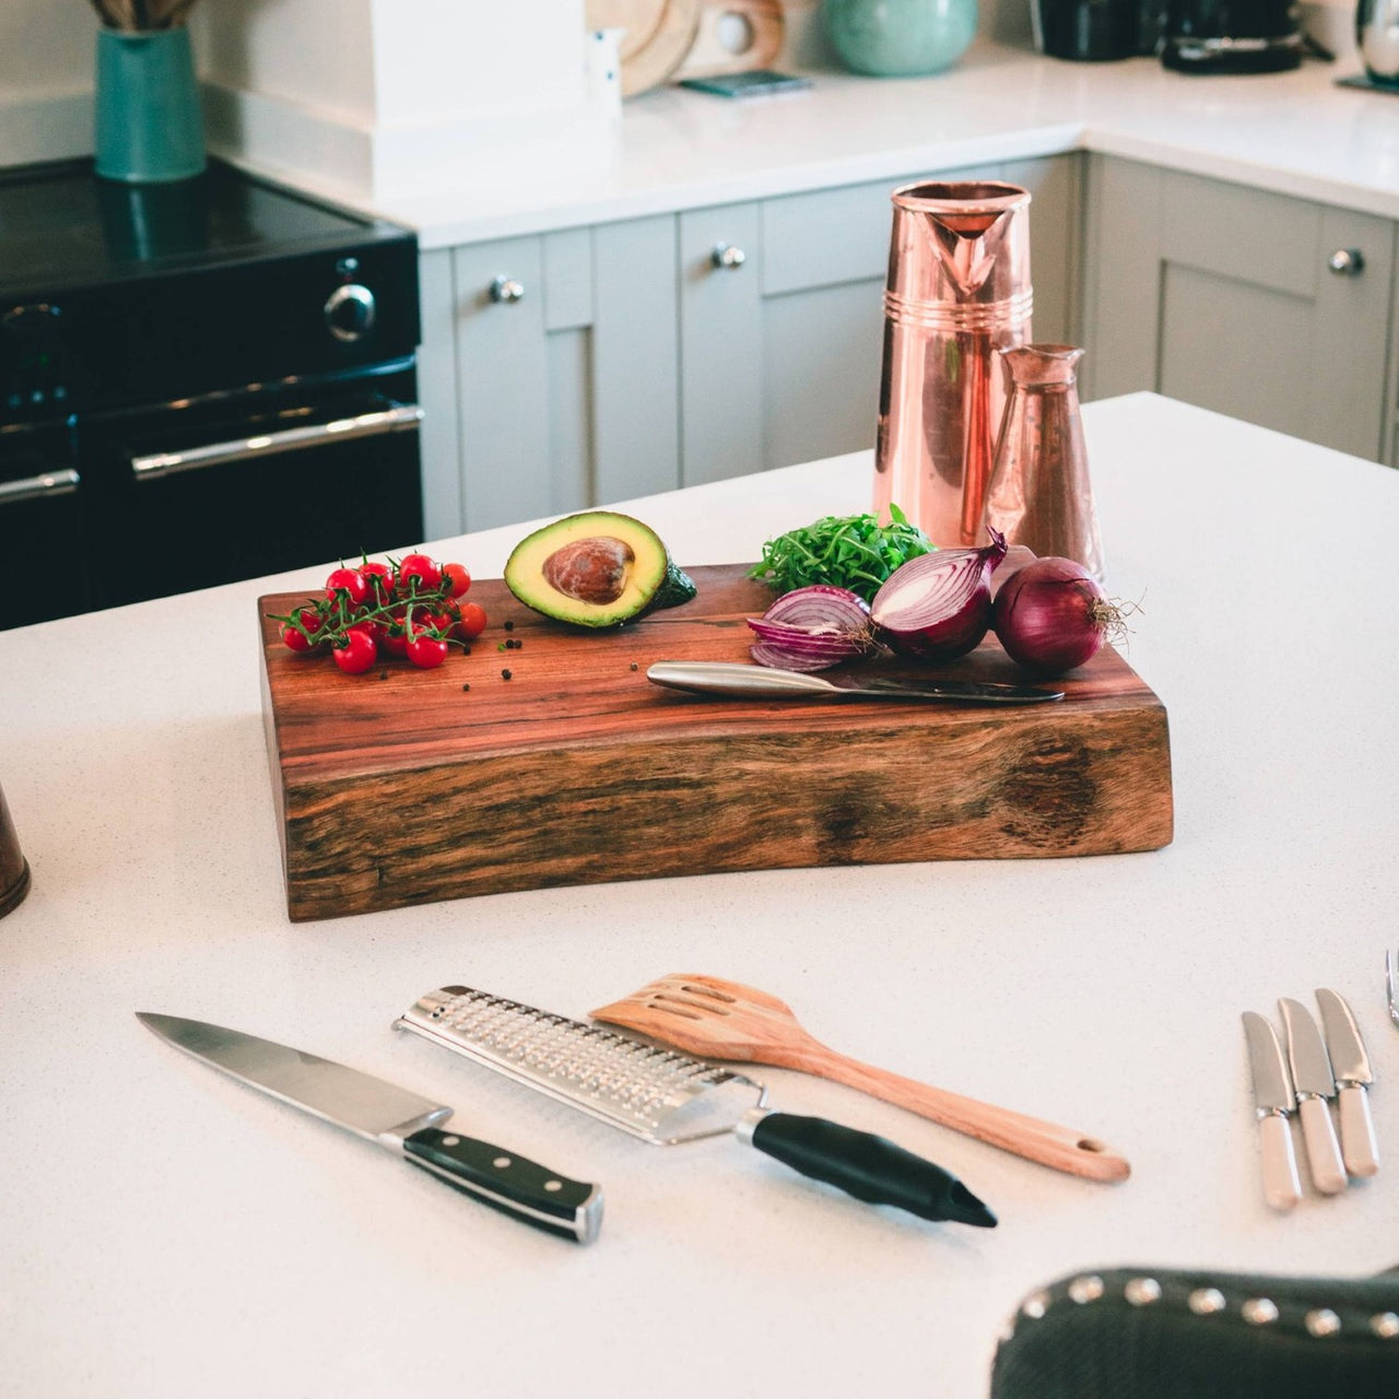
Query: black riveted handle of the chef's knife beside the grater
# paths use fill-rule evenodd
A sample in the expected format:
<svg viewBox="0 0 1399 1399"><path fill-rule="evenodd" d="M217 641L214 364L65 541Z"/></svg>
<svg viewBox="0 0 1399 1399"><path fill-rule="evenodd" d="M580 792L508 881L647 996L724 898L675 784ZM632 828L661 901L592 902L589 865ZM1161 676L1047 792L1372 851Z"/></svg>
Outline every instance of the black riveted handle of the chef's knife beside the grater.
<svg viewBox="0 0 1399 1399"><path fill-rule="evenodd" d="M590 1244L603 1219L602 1186L571 1181L490 1142L424 1128L403 1139L414 1164L516 1219Z"/></svg>

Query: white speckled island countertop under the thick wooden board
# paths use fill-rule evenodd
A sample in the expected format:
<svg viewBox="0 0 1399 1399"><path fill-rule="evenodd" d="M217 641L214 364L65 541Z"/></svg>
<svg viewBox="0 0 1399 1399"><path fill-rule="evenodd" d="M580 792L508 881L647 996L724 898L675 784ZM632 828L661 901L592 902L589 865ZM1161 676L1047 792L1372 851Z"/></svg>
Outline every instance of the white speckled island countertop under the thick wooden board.
<svg viewBox="0 0 1399 1399"><path fill-rule="evenodd" d="M0 634L0 1393L985 1395L1017 1302L1112 1265L1399 1262L1399 476L1149 395L1084 410L1108 586L1167 706L1165 849L553 888L319 923L283 902L256 599L323 568ZM867 508L859 453L631 502L683 564ZM434 546L480 576L523 526ZM35 579L11 579L34 586ZM488 658L457 658L490 666ZM364 683L346 677L346 684ZM793 782L802 781L793 772ZM509 772L499 774L508 789ZM658 813L663 820L663 811ZM383 813L393 821L393 811ZM733 1140L649 1147L390 1021L455 981L583 1016L672 971L867 1062L1107 1139L1116 1186L765 1070L999 1213L872 1209ZM1263 1205L1240 1011L1351 999L1382 1168ZM589 1248L208 1072L158 1010L340 1059L603 1184Z"/></svg>

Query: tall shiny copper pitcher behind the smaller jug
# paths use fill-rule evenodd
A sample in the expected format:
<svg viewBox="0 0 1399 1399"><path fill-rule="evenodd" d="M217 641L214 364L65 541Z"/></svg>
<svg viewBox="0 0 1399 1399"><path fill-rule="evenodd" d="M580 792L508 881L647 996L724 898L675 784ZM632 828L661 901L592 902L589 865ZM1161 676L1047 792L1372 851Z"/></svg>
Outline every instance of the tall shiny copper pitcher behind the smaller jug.
<svg viewBox="0 0 1399 1399"><path fill-rule="evenodd" d="M874 509L970 546L1006 403L993 353L1030 339L1030 192L929 180L891 197Z"/></svg>

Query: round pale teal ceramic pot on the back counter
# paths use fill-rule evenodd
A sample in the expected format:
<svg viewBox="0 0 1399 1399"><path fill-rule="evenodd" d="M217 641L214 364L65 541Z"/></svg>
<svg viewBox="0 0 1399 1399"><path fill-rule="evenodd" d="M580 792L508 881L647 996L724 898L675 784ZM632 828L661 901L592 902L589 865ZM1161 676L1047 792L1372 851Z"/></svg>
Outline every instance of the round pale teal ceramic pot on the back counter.
<svg viewBox="0 0 1399 1399"><path fill-rule="evenodd" d="M950 69L977 34L977 0L821 0L839 60L876 78Z"/></svg>

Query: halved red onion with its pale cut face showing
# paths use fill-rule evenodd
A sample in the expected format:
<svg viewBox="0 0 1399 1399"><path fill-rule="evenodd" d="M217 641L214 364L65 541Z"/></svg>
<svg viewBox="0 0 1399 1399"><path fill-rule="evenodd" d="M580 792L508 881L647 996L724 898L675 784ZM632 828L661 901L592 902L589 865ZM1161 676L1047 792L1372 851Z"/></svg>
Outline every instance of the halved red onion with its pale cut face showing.
<svg viewBox="0 0 1399 1399"><path fill-rule="evenodd" d="M979 645L990 627L990 575L1006 557L1006 536L989 534L985 548L939 548L895 568L870 604L879 639L923 660Z"/></svg>

